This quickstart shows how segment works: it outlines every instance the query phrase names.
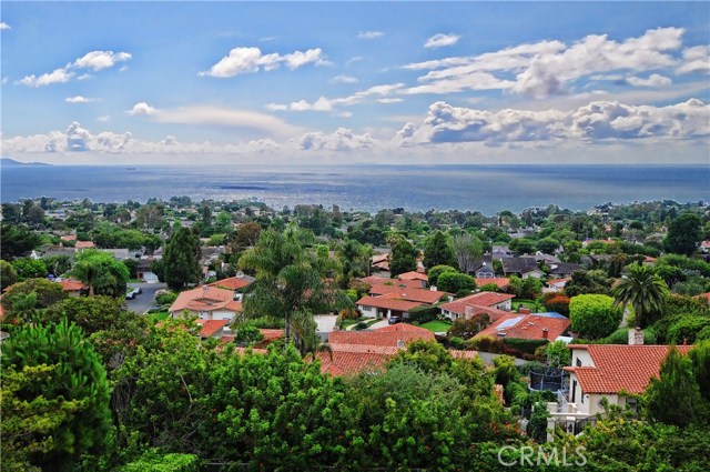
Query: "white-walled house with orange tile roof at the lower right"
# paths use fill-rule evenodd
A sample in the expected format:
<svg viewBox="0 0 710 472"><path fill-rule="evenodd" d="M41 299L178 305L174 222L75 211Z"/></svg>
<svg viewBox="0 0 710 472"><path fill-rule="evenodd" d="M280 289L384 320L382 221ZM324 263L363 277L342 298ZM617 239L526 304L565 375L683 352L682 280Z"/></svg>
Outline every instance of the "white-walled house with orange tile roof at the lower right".
<svg viewBox="0 0 710 472"><path fill-rule="evenodd" d="M568 413L594 415L602 413L599 404L629 403L623 395L643 393L652 376L658 376L669 345L569 344L572 351L569 372ZM691 345L679 345L687 354ZM680 394L680 392L679 392ZM633 400L635 402L635 400Z"/></svg>

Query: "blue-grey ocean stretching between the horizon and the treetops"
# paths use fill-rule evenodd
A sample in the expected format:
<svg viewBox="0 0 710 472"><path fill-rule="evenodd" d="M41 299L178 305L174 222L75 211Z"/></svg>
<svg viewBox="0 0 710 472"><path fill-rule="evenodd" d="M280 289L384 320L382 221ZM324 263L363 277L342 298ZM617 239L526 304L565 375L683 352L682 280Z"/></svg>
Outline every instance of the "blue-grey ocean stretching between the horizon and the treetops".
<svg viewBox="0 0 710 472"><path fill-rule="evenodd" d="M97 202L189 195L253 198L275 209L316 203L495 214L550 203L587 210L608 201L710 198L710 165L2 165L0 174L3 203L42 195Z"/></svg>

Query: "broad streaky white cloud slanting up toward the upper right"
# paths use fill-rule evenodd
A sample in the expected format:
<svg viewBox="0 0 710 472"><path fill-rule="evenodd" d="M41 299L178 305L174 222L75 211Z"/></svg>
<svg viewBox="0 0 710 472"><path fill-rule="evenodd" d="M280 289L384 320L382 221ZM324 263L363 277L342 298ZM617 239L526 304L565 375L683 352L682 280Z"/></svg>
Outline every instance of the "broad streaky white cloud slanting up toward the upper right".
<svg viewBox="0 0 710 472"><path fill-rule="evenodd" d="M428 72L418 78L420 86L412 87L406 93L507 90L547 98L567 93L585 77L676 67L679 59L672 52L681 48L683 32L682 28L659 28L623 41L606 34L589 34L572 44L539 41L478 56L410 63L404 68ZM687 63L694 63L701 52L690 51ZM694 67L688 66L689 70Z"/></svg>

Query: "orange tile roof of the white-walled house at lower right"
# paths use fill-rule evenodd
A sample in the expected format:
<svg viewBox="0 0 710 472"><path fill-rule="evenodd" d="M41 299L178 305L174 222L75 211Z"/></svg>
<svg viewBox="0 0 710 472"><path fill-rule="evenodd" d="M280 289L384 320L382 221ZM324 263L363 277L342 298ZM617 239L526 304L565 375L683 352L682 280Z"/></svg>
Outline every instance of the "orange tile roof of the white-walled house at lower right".
<svg viewBox="0 0 710 472"><path fill-rule="evenodd" d="M568 349L589 352L594 366L565 368L577 375L585 393L643 393L652 376L658 376L669 345L570 344ZM679 345L687 354L692 345ZM682 394L682 392L678 392Z"/></svg>

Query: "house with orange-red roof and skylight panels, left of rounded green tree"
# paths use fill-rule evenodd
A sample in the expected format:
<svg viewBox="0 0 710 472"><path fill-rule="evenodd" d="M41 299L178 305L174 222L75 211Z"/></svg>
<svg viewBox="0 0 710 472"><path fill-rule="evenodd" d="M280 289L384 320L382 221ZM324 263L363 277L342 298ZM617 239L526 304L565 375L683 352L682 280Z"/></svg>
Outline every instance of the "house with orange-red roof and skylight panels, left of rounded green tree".
<svg viewBox="0 0 710 472"><path fill-rule="evenodd" d="M507 313L474 338L491 337L507 339L555 341L569 329L569 319L556 312Z"/></svg>

